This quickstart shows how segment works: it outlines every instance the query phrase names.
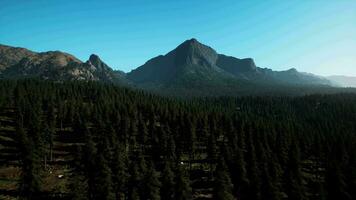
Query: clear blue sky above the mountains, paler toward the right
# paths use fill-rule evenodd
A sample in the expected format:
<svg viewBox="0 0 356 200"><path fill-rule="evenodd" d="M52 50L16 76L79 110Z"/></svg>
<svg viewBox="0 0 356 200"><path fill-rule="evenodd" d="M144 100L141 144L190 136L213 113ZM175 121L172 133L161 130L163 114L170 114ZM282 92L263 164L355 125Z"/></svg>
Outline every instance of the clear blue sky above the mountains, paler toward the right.
<svg viewBox="0 0 356 200"><path fill-rule="evenodd" d="M259 67L356 76L355 0L0 0L0 44L125 72L190 38Z"/></svg>

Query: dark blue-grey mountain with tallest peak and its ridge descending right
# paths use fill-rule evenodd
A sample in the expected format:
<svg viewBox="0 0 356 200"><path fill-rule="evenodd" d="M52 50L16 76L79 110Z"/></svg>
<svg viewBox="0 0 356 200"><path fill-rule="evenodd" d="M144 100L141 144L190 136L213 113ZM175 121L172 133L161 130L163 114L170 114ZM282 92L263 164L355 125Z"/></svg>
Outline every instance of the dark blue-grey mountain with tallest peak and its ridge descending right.
<svg viewBox="0 0 356 200"><path fill-rule="evenodd" d="M153 90L241 91L272 86L331 85L330 81L296 69L273 71L257 67L252 58L218 54L196 39L186 40L166 55L157 56L127 74L139 87ZM159 89L157 89L159 88ZM216 91L218 92L218 91Z"/></svg>

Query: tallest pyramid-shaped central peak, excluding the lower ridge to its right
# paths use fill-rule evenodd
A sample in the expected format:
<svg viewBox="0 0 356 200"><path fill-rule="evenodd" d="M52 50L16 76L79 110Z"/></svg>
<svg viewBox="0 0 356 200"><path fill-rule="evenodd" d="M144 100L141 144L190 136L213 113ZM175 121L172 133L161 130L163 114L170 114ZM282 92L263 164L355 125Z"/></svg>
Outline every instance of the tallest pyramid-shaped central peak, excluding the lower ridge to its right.
<svg viewBox="0 0 356 200"><path fill-rule="evenodd" d="M166 55L157 56L128 73L137 84L170 84L189 79L212 81L227 76L216 66L218 58L214 49L196 39L183 42Z"/></svg>

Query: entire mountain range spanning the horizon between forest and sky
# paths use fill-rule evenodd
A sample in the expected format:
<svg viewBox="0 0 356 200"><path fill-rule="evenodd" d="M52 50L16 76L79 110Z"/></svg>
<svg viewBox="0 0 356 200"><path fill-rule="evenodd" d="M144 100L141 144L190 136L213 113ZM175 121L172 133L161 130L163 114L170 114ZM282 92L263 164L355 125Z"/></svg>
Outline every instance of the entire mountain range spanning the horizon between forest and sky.
<svg viewBox="0 0 356 200"><path fill-rule="evenodd" d="M300 92L346 83L344 77L325 78L294 68L286 71L260 68L252 58L218 54L196 39L183 42L166 55L152 58L129 73L113 70L94 54L82 62L60 51L37 53L0 45L0 78L29 77L103 81L163 94L193 96ZM355 86L355 79L347 80L353 84L349 86Z"/></svg>

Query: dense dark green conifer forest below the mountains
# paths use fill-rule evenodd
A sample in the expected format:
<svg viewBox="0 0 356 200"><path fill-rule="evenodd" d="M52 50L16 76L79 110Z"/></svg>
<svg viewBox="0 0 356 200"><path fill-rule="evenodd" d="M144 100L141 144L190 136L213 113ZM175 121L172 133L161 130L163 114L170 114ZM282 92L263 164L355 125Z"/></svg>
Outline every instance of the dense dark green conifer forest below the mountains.
<svg viewBox="0 0 356 200"><path fill-rule="evenodd" d="M356 199L356 94L0 80L0 199Z"/></svg>

